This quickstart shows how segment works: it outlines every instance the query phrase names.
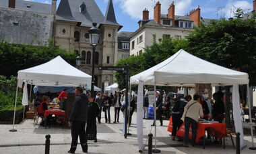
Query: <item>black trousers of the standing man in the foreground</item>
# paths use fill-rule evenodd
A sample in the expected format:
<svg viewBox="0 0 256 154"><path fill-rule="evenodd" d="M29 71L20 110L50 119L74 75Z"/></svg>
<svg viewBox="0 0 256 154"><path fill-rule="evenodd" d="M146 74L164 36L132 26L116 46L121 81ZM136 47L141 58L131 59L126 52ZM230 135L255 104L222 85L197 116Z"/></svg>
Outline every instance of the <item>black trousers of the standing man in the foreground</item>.
<svg viewBox="0 0 256 154"><path fill-rule="evenodd" d="M77 139L79 136L79 140L81 143L81 147L84 151L88 150L87 145L87 136L86 136L86 122L85 121L73 121L71 126L71 137L72 137L72 143L71 143L71 152L75 152L77 147Z"/></svg>

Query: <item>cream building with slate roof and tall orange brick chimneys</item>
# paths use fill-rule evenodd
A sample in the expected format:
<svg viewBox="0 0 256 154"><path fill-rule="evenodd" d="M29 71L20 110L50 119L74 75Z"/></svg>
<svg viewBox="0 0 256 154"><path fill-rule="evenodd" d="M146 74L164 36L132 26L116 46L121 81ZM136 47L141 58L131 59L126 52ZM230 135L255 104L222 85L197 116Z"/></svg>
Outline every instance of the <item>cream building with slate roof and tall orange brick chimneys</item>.
<svg viewBox="0 0 256 154"><path fill-rule="evenodd" d="M151 46L152 42L158 42L162 38L184 38L194 31L195 26L199 26L200 21L209 23L211 19L203 19L200 11L198 6L185 16L175 15L175 5L172 2L168 14L161 14L161 4L158 1L154 7L154 19L149 19L149 11L144 9L142 20L138 22L139 29L130 36L130 55L142 54L146 46Z"/></svg>

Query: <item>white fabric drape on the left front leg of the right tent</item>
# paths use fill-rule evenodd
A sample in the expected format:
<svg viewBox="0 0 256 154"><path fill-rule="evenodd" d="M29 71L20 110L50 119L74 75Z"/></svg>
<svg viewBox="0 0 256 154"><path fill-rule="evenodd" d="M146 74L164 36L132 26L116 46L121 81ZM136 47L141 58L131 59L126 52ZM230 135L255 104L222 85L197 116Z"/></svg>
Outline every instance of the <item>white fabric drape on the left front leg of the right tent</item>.
<svg viewBox="0 0 256 154"><path fill-rule="evenodd" d="M143 151L143 82L141 81L137 94L137 141L139 150Z"/></svg>

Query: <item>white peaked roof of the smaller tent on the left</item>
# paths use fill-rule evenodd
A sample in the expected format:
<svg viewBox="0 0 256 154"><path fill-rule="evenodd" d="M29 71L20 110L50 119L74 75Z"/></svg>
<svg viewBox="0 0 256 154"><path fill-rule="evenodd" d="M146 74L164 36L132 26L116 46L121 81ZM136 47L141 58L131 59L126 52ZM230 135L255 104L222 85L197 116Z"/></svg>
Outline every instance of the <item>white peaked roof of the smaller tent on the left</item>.
<svg viewBox="0 0 256 154"><path fill-rule="evenodd" d="M86 86L91 76L68 64L61 56L44 64L18 71L18 80L37 86Z"/></svg>

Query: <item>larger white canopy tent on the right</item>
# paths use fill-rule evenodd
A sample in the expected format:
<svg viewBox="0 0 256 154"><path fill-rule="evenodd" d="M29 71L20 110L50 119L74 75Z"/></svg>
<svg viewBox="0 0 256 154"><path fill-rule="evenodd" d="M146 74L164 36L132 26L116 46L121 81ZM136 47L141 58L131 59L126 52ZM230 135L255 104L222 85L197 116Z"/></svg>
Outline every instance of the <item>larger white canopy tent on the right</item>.
<svg viewBox="0 0 256 154"><path fill-rule="evenodd" d="M185 52L185 50L180 50L167 60L164 60L164 62L131 76L130 78L131 84L138 84L139 81L143 82L144 85L154 85L155 90L156 86L195 86L195 84L212 84L212 86L231 85L234 89L234 87L238 88L238 84L248 85L249 76L247 73L212 64ZM239 96L238 90L236 90L236 95ZM239 115L240 100L238 100L238 98L239 97L234 97L233 92L233 112ZM251 109L249 110L251 111ZM238 118L239 117L240 116L238 116ZM241 133L241 145L243 145L243 128L241 121L240 119L234 119L234 121L236 123L236 132ZM251 132L252 131L251 127Z"/></svg>

